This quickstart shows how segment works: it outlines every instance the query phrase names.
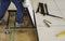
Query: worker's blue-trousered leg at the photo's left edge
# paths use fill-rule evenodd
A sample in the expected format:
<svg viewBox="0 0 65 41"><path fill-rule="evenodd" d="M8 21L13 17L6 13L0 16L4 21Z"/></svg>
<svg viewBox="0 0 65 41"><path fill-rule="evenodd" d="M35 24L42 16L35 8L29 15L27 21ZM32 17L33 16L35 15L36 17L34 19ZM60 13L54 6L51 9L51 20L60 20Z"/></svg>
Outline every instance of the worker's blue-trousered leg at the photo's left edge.
<svg viewBox="0 0 65 41"><path fill-rule="evenodd" d="M1 4L0 4L0 20L4 16L4 13L8 10L10 3L11 3L10 0L1 0Z"/></svg>

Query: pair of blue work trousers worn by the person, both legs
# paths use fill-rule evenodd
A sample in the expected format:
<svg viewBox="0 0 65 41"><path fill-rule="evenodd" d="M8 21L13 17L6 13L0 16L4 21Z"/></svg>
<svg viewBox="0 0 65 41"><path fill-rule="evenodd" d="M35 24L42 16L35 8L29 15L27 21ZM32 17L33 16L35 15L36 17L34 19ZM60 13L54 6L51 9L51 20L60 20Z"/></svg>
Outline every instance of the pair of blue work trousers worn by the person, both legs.
<svg viewBox="0 0 65 41"><path fill-rule="evenodd" d="M5 14L5 11L8 10L11 1L15 4L16 9L17 9L17 14L15 17L15 22L23 23L23 17L24 17L24 6L22 4L21 0L0 0L0 20L2 19L2 17Z"/></svg>

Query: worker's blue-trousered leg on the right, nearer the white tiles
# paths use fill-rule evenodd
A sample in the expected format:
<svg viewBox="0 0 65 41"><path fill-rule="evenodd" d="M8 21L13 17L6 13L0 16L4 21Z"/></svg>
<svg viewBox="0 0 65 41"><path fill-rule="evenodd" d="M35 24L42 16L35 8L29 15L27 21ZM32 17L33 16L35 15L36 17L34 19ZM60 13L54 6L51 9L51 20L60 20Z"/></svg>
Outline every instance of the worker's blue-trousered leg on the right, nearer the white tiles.
<svg viewBox="0 0 65 41"><path fill-rule="evenodd" d="M16 22L18 24L23 23L23 17L24 17L24 6L20 0L12 0L12 2L15 4L17 9L17 14L16 14Z"/></svg>

